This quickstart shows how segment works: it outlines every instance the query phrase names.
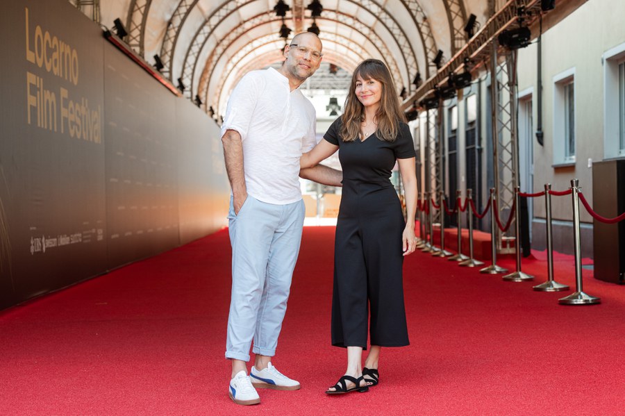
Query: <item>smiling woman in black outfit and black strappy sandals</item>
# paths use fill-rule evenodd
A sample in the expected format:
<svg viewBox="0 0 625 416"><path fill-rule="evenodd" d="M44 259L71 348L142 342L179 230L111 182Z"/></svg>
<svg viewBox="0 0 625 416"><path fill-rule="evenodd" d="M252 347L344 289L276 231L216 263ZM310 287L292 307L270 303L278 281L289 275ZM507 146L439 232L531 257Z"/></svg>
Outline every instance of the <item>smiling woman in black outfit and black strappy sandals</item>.
<svg viewBox="0 0 625 416"><path fill-rule="evenodd" d="M378 384L382 347L408 345L403 306L403 256L415 251L417 178L410 129L381 60L353 73L343 115L301 158L312 167L340 149L343 192L335 235L332 344L347 347L347 371L328 394L365 392ZM390 176L395 162L406 191L404 222ZM367 349L367 315L371 310Z"/></svg>

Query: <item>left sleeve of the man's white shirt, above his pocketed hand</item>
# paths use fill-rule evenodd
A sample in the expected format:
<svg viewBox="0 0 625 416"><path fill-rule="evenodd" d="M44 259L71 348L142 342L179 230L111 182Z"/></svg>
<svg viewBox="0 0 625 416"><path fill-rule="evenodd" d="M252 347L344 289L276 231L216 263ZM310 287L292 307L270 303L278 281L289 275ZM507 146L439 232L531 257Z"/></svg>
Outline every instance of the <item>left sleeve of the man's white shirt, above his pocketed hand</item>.
<svg viewBox="0 0 625 416"><path fill-rule="evenodd" d="M249 72L235 86L226 106L226 115L221 131L222 137L226 130L235 130L241 135L241 140L245 140L256 107L256 97L258 97L260 90L258 82L261 79L260 76Z"/></svg>

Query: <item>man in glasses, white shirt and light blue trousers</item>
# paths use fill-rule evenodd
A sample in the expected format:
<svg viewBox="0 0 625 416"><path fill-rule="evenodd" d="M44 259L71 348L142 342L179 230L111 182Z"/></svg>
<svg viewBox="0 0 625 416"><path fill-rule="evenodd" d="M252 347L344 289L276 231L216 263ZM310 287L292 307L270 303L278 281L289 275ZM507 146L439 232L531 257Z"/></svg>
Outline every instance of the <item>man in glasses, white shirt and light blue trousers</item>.
<svg viewBox="0 0 625 416"><path fill-rule="evenodd" d="M300 33L284 49L285 62L243 76L228 100L222 124L226 171L232 188L228 214L232 294L226 358L228 394L238 404L260 403L256 388L297 390L297 381L271 363L286 310L305 208L299 176L340 185L324 166L300 172L299 158L315 146L315 108L299 86L322 60L322 42ZM253 339L254 365L247 374ZM256 388L255 388L256 387Z"/></svg>

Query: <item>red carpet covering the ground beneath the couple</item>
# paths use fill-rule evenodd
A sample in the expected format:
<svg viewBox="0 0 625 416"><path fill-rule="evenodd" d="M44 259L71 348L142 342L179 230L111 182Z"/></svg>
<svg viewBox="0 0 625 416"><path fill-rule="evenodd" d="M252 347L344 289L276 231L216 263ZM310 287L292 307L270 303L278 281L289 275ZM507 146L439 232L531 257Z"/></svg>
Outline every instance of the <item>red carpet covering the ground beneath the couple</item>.
<svg viewBox="0 0 625 416"><path fill-rule="evenodd" d="M602 303L562 306L572 291L531 290L544 260L524 262L534 282L512 283L420 252L405 265L410 347L383 350L369 392L326 397L345 357L330 346L333 235L305 229L274 360L301 390L259 390L251 407L228 399L220 231L0 313L0 414L625 414L625 288L585 270ZM556 281L574 288L572 257L556 260Z"/></svg>

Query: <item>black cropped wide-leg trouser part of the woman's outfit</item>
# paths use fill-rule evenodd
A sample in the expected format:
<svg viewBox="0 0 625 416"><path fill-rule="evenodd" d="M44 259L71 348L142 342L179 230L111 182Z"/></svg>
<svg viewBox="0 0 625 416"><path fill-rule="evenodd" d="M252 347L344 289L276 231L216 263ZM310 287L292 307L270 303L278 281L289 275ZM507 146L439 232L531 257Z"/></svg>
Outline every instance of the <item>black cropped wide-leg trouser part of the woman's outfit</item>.
<svg viewBox="0 0 625 416"><path fill-rule="evenodd" d="M335 235L332 344L408 345L401 236L406 223L392 186L343 181Z"/></svg>

